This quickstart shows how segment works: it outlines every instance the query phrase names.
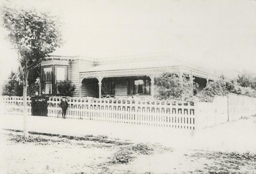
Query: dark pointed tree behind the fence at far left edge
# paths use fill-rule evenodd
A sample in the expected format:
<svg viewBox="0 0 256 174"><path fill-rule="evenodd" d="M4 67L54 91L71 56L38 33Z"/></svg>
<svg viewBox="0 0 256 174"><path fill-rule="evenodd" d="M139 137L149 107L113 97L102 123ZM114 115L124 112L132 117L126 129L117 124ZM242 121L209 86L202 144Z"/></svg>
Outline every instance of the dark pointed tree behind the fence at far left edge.
<svg viewBox="0 0 256 174"><path fill-rule="evenodd" d="M16 74L12 71L8 80L4 82L2 95L7 96L22 96L23 85L20 83Z"/></svg>

